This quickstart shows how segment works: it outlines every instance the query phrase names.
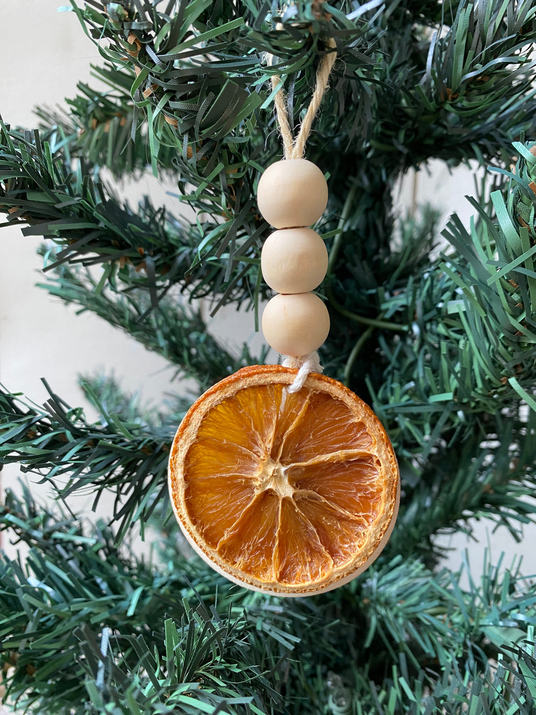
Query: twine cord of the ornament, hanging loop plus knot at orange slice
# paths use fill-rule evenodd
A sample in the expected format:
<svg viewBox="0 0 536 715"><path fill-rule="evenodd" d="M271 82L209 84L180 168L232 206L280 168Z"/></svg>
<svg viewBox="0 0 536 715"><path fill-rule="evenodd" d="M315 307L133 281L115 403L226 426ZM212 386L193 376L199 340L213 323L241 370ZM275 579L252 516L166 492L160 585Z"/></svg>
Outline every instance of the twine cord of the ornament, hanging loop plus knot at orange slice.
<svg viewBox="0 0 536 715"><path fill-rule="evenodd" d="M309 103L309 107L307 107L307 112L302 119L302 124L300 124L299 132L295 139L292 136L292 131L290 129L289 117L287 114L287 101L284 97L283 90L279 89L279 92L277 92L274 97L277 122L279 124L279 131L281 132L283 140L283 156L285 159L302 159L304 157L305 144L307 143L307 139L309 139L309 134L311 134L314 117L317 116L322 98L328 89L329 75L331 74L334 61L337 58L337 52L334 51L336 44L332 37L330 37L327 41L327 45L332 48L333 51L324 54L320 61L311 102ZM267 63L271 65L273 60L274 56L272 54L268 54ZM276 89L280 82L281 78L277 74L272 75L272 89ZM285 368L294 368L298 370L298 374L296 375L296 378L294 378L294 382L289 387L289 393L297 393L298 390L301 390L309 373L324 372L324 368L320 365L318 352L316 351L309 352L309 355L301 355L298 358L294 358L292 355L282 355L281 357L282 365Z"/></svg>

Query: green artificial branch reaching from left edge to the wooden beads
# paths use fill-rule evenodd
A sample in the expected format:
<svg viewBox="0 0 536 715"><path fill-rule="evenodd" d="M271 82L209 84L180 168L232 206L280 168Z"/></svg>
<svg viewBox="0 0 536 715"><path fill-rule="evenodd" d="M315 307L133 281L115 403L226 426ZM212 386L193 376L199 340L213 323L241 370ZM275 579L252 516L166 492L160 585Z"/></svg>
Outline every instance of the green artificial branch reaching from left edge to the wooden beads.
<svg viewBox="0 0 536 715"><path fill-rule="evenodd" d="M99 181L96 165L87 165L83 157L72 161L71 148L76 158L76 135L66 136L61 127L41 137L0 122L0 212L8 216L2 225L27 225L23 235L41 235L61 247L45 270L66 262L102 264L103 285L119 280L124 287L146 290L153 306L177 284L191 297L219 294L218 305L257 300L264 222L254 230L242 227L237 232L234 220L222 222L207 206L207 220L192 224L164 208L155 209L147 197L134 212ZM239 255L231 260L222 250L200 262L200 239L205 236L207 245L211 235L232 242Z"/></svg>

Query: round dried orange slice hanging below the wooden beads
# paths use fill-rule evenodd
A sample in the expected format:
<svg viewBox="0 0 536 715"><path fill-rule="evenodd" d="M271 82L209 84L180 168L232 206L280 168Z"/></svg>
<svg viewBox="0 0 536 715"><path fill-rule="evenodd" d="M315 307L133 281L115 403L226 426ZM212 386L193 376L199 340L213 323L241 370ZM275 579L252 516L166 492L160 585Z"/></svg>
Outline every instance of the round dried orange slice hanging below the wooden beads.
<svg viewBox="0 0 536 715"><path fill-rule="evenodd" d="M169 490L195 551L231 581L281 596L341 586L389 538L397 460L382 424L336 380L243 368L207 390L177 431Z"/></svg>

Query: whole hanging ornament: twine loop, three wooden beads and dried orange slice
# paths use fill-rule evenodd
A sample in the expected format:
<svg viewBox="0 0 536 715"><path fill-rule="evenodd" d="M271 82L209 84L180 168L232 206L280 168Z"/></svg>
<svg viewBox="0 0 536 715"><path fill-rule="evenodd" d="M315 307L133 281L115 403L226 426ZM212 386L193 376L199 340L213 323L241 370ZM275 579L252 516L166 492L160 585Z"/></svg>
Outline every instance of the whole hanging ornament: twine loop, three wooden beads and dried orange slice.
<svg viewBox="0 0 536 715"><path fill-rule="evenodd" d="M318 373L329 311L311 291L329 260L310 227L328 191L304 150L335 56L319 62L296 139L272 76L284 159L262 174L257 204L277 229L261 267L279 293L264 307L262 332L287 365L243 368L207 390L169 458L172 504L195 551L231 581L279 596L330 591L362 573L387 542L400 498L382 424L357 395Z"/></svg>

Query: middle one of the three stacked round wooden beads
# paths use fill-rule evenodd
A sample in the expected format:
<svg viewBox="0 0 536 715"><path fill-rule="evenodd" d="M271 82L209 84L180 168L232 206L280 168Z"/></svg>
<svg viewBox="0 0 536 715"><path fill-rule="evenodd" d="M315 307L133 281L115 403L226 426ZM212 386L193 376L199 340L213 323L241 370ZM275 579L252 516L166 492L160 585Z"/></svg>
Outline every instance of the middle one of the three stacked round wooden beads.
<svg viewBox="0 0 536 715"><path fill-rule="evenodd" d="M327 248L312 228L274 231L261 252L262 277L278 293L307 293L327 272Z"/></svg>

